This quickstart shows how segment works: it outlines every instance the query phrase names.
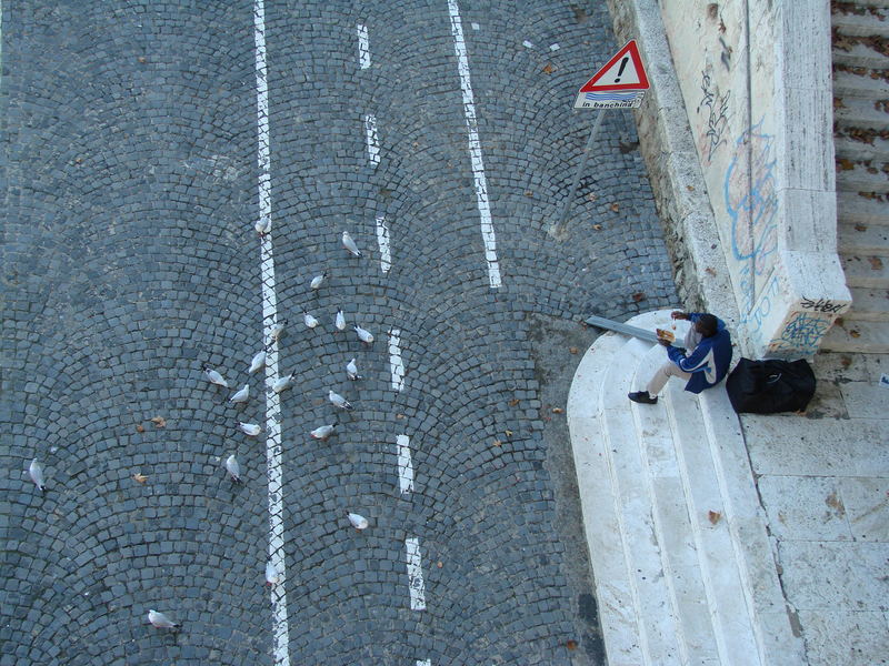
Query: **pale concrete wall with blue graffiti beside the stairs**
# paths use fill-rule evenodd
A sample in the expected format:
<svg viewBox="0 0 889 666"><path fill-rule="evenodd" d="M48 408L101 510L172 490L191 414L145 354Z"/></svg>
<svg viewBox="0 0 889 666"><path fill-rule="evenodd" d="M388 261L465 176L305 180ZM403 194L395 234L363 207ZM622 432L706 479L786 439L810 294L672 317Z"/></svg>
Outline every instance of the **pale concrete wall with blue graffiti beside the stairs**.
<svg viewBox="0 0 889 666"><path fill-rule="evenodd" d="M828 0L610 6L621 38L651 41L653 14L662 21L669 54L643 46L643 58L649 69L651 58L675 67L743 351L812 354L851 301L837 256ZM633 31L646 24L648 34ZM642 107L640 135L669 122L651 117L660 111Z"/></svg>

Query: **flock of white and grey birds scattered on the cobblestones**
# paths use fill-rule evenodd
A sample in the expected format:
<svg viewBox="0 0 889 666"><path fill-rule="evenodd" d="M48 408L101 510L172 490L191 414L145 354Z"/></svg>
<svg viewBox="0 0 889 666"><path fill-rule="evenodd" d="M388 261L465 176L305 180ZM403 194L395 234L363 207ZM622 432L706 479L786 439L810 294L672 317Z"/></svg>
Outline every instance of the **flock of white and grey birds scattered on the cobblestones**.
<svg viewBox="0 0 889 666"><path fill-rule="evenodd" d="M260 234L260 236L264 235L270 230L270 222L267 220L260 220L256 223L256 230ZM349 234L348 231L342 232L342 246L352 255L357 258L361 258L362 253L358 249L352 236ZM320 275L316 275L312 278L311 282L309 283L310 289L312 292L316 292L321 289L321 286L327 281L328 274L327 272L321 273ZM303 310L302 312L302 321L308 329L316 329L320 322L311 315L308 311ZM287 329L288 321L282 320L281 322L276 323L270 332L269 332L269 342L268 345L278 342L280 336L283 334L284 330ZM333 317L333 326L337 331L344 332L346 331L346 314L342 312L342 309L337 310L337 314ZM370 346L373 343L373 335L370 331L362 329L358 324L352 325L352 330L358 335L358 339L364 343L366 345ZM252 360L250 361L250 367L248 370L248 374L253 374L259 370L266 366L266 350L258 352L253 355ZM209 367L208 365L203 366L203 374L207 380L222 389L228 389L229 383L222 376L222 374ZM281 393L289 389L293 383L293 375L294 373L290 373L287 376L279 377L271 384L271 391L274 393ZM351 381L358 381L361 379L361 375L358 373L358 364L357 359L352 359L346 365L346 376ZM232 405L243 404L250 400L250 385L244 384L242 389L233 393L228 402ZM350 411L352 410L352 404L346 400L342 395L333 391L332 389L328 391L328 401L334 407L339 410ZM327 440L333 434L334 428L337 427L338 422L334 421L333 423L327 423L324 425L320 425L312 430L309 434L316 440ZM259 436L262 432L262 426L257 423L244 423L242 421L238 422L238 428L250 437ZM232 483L243 483L241 480L241 466L238 463L238 458L234 454L231 454L226 458L226 471L231 478ZM31 477L31 481L38 487L41 493L44 493L47 490L44 475L43 475L43 465L37 458L31 461L31 464L28 467L28 474ZM346 515L349 519L349 523L356 529L366 529L368 527L368 519L357 513L352 513L347 511ZM277 567L271 561L266 563L266 585L274 586L280 581L280 573L278 572ZM170 617L160 613L159 610L154 610L153 608L148 612L148 620L151 623L152 626L161 628L161 629L172 629L178 630L182 625L181 623L172 620Z"/></svg>

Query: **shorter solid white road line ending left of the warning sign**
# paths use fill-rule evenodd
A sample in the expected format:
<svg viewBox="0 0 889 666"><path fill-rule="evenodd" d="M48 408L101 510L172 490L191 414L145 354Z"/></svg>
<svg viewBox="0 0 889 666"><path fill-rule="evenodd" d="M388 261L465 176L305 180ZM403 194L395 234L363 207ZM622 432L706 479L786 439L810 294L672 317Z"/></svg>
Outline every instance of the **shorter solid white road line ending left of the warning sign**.
<svg viewBox="0 0 889 666"><path fill-rule="evenodd" d="M453 49L457 53L457 71L460 74L460 88L463 91L463 113L469 131L469 157L472 162L472 176L476 182L476 201L481 219L481 238L485 241L485 260L488 262L488 281L492 289L500 286L500 264L497 261L497 239L491 222L491 206L488 201L488 181L485 178L485 164L481 161L481 141L479 141L478 121L476 120L476 102L472 95L472 83L469 79L469 58L463 41L463 27L460 22L460 9L457 0L448 0L451 14L451 33Z"/></svg>

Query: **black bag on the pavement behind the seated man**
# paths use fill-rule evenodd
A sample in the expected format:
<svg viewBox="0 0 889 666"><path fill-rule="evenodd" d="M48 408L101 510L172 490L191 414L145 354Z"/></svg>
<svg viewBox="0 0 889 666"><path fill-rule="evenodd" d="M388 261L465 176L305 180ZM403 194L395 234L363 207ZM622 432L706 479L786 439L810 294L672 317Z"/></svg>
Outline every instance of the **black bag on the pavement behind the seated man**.
<svg viewBox="0 0 889 666"><path fill-rule="evenodd" d="M726 391L739 414L797 412L815 395L815 373L803 360L741 359L726 380Z"/></svg>

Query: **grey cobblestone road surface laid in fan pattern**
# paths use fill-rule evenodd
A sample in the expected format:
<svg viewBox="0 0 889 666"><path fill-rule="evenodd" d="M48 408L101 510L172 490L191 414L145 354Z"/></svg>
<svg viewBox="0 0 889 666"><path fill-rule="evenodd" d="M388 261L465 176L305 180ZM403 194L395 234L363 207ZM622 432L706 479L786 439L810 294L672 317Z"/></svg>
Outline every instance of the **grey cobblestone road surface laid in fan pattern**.
<svg viewBox="0 0 889 666"><path fill-rule="evenodd" d="M498 290L447 0L264 8L280 372L297 377L281 394L292 664L600 663L591 583L566 574L586 554L560 537L556 504L575 500L547 465L529 315L667 306L669 264L626 112L606 117L569 240L547 235L593 120L573 95L617 47L605 8L460 11ZM2 12L0 666L274 664L266 451L237 428L264 423L261 373L247 373L263 344L252 2ZM343 229L363 258L342 250ZM333 329L338 307L371 346ZM321 325L307 330L303 309ZM351 357L361 381L346 379ZM227 404L244 383L250 401ZM356 408L334 414L330 389ZM332 437L309 437L333 418ZM242 485L226 476L231 453ZM149 608L182 628L152 627Z"/></svg>

